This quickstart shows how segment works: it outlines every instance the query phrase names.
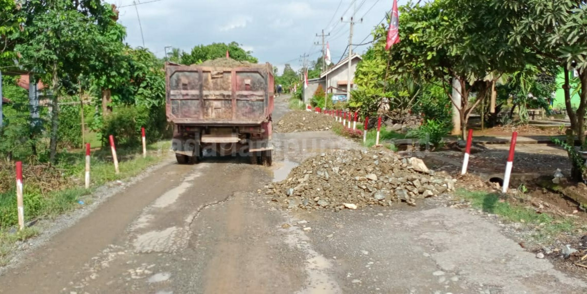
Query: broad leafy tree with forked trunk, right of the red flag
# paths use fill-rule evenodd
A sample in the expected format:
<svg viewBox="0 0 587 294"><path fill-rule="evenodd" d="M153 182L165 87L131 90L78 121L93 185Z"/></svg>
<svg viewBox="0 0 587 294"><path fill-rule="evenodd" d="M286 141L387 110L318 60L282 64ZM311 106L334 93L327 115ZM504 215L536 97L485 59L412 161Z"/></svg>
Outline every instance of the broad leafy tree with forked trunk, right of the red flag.
<svg viewBox="0 0 587 294"><path fill-rule="evenodd" d="M456 133L462 135L492 82L527 61L523 48L507 46L507 32L494 21L499 12L490 4L490 0L437 0L400 7L402 42L386 58L388 78L397 80L410 73L419 80L440 82L458 110L461 131ZM384 26L376 29L375 50L384 50L384 36ZM454 88L462 97L460 102L452 94L453 80L459 86ZM474 100L473 92L477 92Z"/></svg>

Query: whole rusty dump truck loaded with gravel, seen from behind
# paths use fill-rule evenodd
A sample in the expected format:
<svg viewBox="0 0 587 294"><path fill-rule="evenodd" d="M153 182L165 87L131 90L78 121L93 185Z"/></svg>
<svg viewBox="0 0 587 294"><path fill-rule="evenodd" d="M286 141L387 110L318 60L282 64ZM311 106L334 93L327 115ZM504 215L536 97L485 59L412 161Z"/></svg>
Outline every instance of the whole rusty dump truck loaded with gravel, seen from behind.
<svg viewBox="0 0 587 294"><path fill-rule="evenodd" d="M165 71L166 114L178 163L197 163L212 153L271 165L271 64L222 58L191 66L167 62Z"/></svg>

